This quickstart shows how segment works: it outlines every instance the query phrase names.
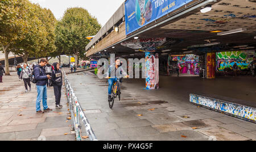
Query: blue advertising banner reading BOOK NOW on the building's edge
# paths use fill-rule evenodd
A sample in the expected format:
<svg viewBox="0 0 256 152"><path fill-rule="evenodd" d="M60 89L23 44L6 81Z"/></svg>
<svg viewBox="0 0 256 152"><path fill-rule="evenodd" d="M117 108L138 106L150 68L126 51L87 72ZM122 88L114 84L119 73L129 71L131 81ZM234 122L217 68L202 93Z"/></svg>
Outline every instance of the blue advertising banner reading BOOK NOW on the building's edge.
<svg viewBox="0 0 256 152"><path fill-rule="evenodd" d="M193 0L127 0L126 35Z"/></svg>

